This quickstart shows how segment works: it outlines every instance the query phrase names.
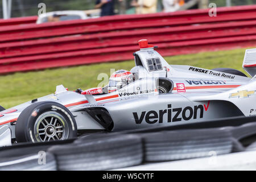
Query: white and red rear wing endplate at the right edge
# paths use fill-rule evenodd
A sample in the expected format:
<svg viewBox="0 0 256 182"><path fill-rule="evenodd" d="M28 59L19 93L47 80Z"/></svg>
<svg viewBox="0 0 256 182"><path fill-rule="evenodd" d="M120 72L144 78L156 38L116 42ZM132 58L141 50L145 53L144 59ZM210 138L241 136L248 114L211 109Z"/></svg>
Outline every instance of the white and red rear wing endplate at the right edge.
<svg viewBox="0 0 256 182"><path fill-rule="evenodd" d="M256 48L246 49L242 67L251 77L256 75Z"/></svg>

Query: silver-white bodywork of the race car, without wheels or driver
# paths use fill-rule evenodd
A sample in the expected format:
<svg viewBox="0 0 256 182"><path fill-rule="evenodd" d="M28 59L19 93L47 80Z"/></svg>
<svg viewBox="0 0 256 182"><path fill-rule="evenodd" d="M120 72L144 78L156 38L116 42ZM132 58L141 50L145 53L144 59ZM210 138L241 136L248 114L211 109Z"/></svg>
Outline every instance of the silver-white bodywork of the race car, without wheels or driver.
<svg viewBox="0 0 256 182"><path fill-rule="evenodd" d="M142 48L134 56L135 67L130 72L134 73L135 81L115 92L85 97L60 85L55 94L38 98L36 102L54 101L64 105L75 116L78 130L106 129L88 110L105 110L113 123L110 131L256 114L254 78L169 65L153 47ZM159 94L157 89L162 78L172 84L170 92L165 94ZM15 138L15 126L10 123L17 121L19 114L31 104L29 101L15 106L11 113L10 109L0 112L0 126L9 125L11 138Z"/></svg>

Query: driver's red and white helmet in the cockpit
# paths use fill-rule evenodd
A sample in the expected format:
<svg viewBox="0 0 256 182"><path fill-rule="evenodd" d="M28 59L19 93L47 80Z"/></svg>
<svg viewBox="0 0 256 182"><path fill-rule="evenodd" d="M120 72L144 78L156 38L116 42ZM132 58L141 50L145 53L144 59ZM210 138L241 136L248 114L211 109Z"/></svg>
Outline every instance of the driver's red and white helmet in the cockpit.
<svg viewBox="0 0 256 182"><path fill-rule="evenodd" d="M123 86L128 85L133 81L133 73L120 69L112 74L109 78L109 93L115 90L123 88Z"/></svg>

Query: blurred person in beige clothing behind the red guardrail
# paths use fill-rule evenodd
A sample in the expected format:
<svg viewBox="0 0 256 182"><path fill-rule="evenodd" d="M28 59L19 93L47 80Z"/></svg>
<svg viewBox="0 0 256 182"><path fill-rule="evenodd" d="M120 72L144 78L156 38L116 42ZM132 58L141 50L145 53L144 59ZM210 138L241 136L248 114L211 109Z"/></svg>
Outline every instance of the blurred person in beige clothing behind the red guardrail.
<svg viewBox="0 0 256 182"><path fill-rule="evenodd" d="M131 6L136 8L136 14L156 13L157 0L133 0Z"/></svg>

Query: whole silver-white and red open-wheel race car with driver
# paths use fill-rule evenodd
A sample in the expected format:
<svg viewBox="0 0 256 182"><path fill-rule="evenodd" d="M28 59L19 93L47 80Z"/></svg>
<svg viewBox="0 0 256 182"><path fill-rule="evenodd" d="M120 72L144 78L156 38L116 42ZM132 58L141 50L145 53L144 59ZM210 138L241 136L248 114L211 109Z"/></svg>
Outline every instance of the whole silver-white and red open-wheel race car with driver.
<svg viewBox="0 0 256 182"><path fill-rule="evenodd" d="M135 67L115 72L104 88L71 92L59 85L54 94L2 109L0 144L256 114L256 49L243 61L249 78L230 68L170 65L144 39L139 47Z"/></svg>

